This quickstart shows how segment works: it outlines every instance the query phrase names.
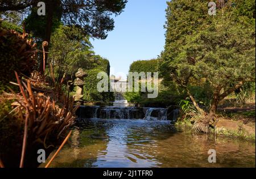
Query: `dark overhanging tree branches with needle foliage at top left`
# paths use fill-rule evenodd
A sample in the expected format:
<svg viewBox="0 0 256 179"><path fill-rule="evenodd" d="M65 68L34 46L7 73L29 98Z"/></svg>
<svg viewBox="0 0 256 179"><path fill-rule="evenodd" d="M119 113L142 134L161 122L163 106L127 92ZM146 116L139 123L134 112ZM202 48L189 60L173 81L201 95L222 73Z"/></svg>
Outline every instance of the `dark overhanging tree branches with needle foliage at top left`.
<svg viewBox="0 0 256 179"><path fill-rule="evenodd" d="M51 40L53 22L55 18L61 19L64 25L75 26L82 29L85 35L105 39L107 33L114 28L112 15L119 15L125 8L127 0L40 0L46 3L46 17L43 41ZM1 11L19 11L28 9L31 12L36 8L39 0L1 0ZM35 11L34 11L35 12ZM31 19L39 18L36 13L31 14ZM34 16L34 17L33 17ZM42 17L41 17L42 18ZM33 21L37 23L38 21ZM48 48L46 48L48 50ZM40 65L42 71L42 62Z"/></svg>

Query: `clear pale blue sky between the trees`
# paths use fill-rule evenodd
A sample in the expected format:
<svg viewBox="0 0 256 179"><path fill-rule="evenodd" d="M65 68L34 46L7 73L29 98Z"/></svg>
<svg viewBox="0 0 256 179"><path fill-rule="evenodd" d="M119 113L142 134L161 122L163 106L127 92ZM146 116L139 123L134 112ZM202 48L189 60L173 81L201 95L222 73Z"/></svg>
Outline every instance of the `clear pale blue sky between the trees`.
<svg viewBox="0 0 256 179"><path fill-rule="evenodd" d="M92 40L94 51L110 61L110 74L126 78L130 64L158 57L164 48L166 0L128 0L106 40Z"/></svg>

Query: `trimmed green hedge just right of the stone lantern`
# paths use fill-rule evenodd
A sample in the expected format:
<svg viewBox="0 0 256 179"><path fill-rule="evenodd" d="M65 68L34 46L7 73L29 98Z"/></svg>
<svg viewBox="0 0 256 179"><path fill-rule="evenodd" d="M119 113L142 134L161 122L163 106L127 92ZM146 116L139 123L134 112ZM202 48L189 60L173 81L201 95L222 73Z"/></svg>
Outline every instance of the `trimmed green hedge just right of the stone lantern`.
<svg viewBox="0 0 256 179"><path fill-rule="evenodd" d="M86 70L88 76L85 77L84 86L84 101L85 102L96 102L104 101L108 103L109 101L114 101L113 92L98 92L97 83L100 79L97 79L97 74L104 71L108 75L110 74L110 65L107 59L100 59L100 65L94 69Z"/></svg>

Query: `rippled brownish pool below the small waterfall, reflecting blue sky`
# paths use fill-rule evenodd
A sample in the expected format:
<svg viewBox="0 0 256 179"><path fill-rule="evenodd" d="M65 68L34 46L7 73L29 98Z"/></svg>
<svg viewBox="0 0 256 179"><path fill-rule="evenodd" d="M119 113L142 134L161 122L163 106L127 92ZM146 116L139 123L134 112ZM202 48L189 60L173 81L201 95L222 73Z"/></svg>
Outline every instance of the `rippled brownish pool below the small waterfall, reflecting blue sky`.
<svg viewBox="0 0 256 179"><path fill-rule="evenodd" d="M169 121L80 120L51 167L255 167L255 143L193 135Z"/></svg>

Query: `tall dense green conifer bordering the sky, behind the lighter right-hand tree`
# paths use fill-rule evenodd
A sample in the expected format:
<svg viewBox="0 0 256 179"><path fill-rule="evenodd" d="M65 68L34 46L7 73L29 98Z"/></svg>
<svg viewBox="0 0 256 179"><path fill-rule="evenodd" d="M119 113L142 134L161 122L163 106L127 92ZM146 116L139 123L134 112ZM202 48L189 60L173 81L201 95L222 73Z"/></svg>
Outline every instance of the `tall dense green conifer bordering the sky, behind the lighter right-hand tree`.
<svg viewBox="0 0 256 179"><path fill-rule="evenodd" d="M196 34L201 25L210 20L207 1L174 0L167 4L164 61L174 59L185 45L185 37Z"/></svg>

